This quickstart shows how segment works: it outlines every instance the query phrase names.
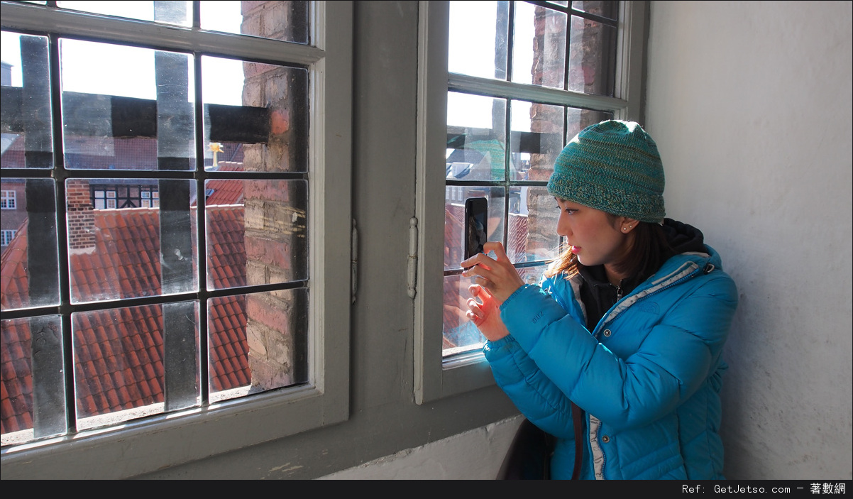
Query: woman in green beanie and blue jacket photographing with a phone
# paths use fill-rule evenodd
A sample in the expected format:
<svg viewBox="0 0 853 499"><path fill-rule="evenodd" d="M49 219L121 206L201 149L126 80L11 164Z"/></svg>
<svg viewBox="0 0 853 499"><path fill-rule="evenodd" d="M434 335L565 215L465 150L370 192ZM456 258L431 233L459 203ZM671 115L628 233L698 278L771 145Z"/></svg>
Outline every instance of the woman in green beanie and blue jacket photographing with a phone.
<svg viewBox="0 0 853 499"><path fill-rule="evenodd" d="M554 479L572 478L576 452L581 479L723 478L721 353L737 289L698 229L664 219L663 191L640 125L589 126L548 181L569 249L540 285L500 243L461 263L497 384L557 438Z"/></svg>

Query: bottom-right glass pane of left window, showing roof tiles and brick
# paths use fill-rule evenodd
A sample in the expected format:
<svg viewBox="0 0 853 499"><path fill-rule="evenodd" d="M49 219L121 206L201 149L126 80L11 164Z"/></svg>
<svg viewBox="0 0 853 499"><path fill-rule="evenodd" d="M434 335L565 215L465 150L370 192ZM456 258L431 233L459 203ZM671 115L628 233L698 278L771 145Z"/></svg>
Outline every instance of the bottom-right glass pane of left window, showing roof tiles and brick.
<svg viewBox="0 0 853 499"><path fill-rule="evenodd" d="M207 302L211 401L308 381L308 290Z"/></svg>

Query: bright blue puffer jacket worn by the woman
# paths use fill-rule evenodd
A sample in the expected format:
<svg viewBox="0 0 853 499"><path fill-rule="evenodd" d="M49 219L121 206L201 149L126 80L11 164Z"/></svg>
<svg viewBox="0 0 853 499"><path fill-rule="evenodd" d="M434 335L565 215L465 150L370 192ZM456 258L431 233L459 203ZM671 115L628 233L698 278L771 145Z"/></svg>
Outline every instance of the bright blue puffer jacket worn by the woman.
<svg viewBox="0 0 853 499"><path fill-rule="evenodd" d="M558 438L570 479L570 399L584 410L582 479L722 479L720 389L737 289L720 257L682 253L608 310L591 334L580 277L520 287L501 306L510 335L487 342L497 384Z"/></svg>

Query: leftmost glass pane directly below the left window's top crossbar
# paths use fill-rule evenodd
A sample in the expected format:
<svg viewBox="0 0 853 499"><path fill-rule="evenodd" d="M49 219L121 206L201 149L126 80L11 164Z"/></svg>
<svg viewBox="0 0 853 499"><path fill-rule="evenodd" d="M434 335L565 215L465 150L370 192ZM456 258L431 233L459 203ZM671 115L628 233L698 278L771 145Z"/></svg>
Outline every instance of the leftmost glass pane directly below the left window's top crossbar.
<svg viewBox="0 0 853 499"><path fill-rule="evenodd" d="M3 32L0 41L3 56L0 167L51 168L48 39Z"/></svg>

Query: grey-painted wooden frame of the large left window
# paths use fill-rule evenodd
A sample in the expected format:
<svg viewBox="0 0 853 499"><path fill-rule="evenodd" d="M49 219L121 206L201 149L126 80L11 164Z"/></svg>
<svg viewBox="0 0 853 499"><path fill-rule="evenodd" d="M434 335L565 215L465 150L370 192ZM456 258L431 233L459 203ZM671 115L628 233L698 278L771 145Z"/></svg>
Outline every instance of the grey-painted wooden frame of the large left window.
<svg viewBox="0 0 853 499"><path fill-rule="evenodd" d="M133 477L348 419L352 3L313 2L310 26L313 46L3 3L3 29L12 31L138 44L156 40L174 49L308 67L311 331L310 381L304 386L3 449L3 479ZM227 53L223 38L229 40Z"/></svg>

